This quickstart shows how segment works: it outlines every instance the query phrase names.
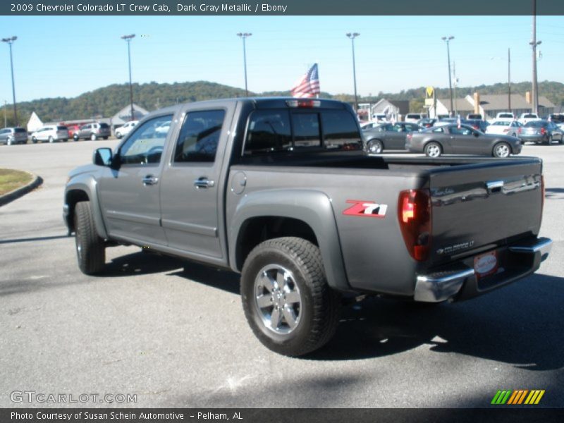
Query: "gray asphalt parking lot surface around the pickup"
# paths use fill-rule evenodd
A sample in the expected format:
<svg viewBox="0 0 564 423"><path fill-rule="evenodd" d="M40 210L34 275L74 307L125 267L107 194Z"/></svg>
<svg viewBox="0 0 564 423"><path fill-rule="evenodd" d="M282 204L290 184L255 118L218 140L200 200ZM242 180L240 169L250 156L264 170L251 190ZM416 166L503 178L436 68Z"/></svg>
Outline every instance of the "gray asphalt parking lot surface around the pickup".
<svg viewBox="0 0 564 423"><path fill-rule="evenodd" d="M135 407L487 407L519 388L564 407L564 145L523 150L544 159L541 235L554 241L537 274L437 307L367 300L296 359L252 335L236 274L138 247L109 248L103 276L80 273L61 217L66 174L117 143L0 147L0 168L44 179L0 207L0 407L110 405L15 403L14 391L134 394L112 406Z"/></svg>

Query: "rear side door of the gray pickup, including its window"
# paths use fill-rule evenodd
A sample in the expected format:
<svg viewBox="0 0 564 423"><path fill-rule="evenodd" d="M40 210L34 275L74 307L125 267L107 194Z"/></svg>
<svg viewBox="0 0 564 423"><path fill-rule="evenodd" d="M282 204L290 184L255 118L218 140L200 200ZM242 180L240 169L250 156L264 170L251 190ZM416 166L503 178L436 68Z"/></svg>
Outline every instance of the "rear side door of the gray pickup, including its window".
<svg viewBox="0 0 564 423"><path fill-rule="evenodd" d="M222 247L223 183L221 165L234 105L185 109L171 160L161 185L162 226L168 246L189 257L226 262Z"/></svg>

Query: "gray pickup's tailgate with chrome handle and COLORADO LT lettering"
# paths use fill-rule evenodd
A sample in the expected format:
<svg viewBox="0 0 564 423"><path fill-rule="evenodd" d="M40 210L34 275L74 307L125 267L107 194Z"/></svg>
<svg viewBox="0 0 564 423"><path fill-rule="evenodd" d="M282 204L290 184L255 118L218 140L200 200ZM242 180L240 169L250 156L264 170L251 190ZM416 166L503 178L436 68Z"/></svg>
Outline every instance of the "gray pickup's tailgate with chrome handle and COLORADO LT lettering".
<svg viewBox="0 0 564 423"><path fill-rule="evenodd" d="M510 159L431 171L429 259L451 259L538 235L542 161Z"/></svg>

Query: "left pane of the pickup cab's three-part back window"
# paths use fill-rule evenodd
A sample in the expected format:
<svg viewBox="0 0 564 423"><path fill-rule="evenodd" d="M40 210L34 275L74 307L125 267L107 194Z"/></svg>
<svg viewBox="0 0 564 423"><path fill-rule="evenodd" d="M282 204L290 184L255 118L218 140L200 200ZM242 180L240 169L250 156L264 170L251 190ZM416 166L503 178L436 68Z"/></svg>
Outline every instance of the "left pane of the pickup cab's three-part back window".
<svg viewBox="0 0 564 423"><path fill-rule="evenodd" d="M256 110L249 118L245 154L274 152L292 147L290 117L286 110Z"/></svg>

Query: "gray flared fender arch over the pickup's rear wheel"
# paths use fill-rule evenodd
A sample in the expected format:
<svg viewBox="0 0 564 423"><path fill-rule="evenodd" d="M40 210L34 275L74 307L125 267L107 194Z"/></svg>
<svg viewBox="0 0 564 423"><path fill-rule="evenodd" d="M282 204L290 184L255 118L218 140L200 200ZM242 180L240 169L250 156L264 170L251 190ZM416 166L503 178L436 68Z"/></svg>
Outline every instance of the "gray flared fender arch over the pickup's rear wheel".
<svg viewBox="0 0 564 423"><path fill-rule="evenodd" d="M314 232L329 286L338 290L350 290L341 242L337 231L331 199L315 190L267 190L251 192L235 209L228 233L229 245L238 245L243 224L256 217L286 217L303 221ZM235 247L229 252L231 267L237 269Z"/></svg>

